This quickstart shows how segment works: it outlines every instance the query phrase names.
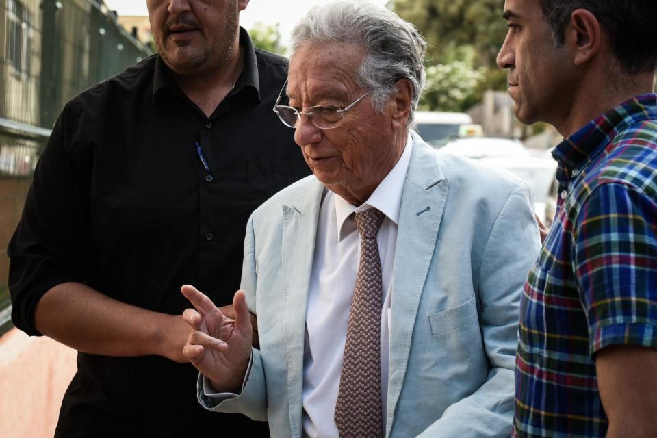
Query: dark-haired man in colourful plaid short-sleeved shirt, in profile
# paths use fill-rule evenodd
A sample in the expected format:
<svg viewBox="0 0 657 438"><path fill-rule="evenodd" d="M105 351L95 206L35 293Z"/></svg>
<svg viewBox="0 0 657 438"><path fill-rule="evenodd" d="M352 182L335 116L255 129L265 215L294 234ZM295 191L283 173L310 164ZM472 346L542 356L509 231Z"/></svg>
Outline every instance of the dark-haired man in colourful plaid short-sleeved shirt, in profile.
<svg viewBox="0 0 657 438"><path fill-rule="evenodd" d="M657 1L506 0L498 65L565 137L521 299L513 433L657 437Z"/></svg>

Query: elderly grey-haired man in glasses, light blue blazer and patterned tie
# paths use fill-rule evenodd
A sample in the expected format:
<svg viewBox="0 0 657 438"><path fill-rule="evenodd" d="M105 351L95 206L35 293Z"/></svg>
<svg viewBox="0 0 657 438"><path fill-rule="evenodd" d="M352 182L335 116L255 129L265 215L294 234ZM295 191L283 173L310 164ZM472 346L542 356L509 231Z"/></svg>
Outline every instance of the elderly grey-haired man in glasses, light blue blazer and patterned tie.
<svg viewBox="0 0 657 438"><path fill-rule="evenodd" d="M274 111L314 176L251 216L234 324L183 287L209 409L276 437L511 433L531 194L409 133L425 46L370 3L315 8L294 30Z"/></svg>

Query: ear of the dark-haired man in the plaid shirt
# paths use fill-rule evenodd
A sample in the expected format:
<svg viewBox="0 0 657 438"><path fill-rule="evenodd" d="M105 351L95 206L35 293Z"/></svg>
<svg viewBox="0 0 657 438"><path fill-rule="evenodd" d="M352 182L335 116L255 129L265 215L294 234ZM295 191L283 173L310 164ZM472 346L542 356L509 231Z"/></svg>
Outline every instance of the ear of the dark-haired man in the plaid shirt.
<svg viewBox="0 0 657 438"><path fill-rule="evenodd" d="M602 30L595 15L586 9L576 9L565 31L566 44L573 49L573 62L582 66L600 52Z"/></svg>

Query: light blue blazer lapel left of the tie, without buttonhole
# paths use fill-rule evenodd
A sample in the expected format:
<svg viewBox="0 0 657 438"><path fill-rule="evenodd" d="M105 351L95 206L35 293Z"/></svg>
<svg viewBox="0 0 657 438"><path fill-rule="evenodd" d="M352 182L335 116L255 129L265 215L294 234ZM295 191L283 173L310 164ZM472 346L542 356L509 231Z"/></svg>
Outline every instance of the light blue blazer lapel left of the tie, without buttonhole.
<svg viewBox="0 0 657 438"><path fill-rule="evenodd" d="M285 287L287 394L292 437L300 437L306 307L324 185L314 180L300 198L283 205L281 260Z"/></svg>

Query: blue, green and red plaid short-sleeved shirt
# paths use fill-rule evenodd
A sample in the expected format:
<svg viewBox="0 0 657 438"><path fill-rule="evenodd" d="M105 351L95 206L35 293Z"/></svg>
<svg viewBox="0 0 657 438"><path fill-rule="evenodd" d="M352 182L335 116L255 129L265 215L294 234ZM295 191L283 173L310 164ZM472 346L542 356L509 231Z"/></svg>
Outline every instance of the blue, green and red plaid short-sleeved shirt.
<svg viewBox="0 0 657 438"><path fill-rule="evenodd" d="M554 224L521 298L515 437L604 437L595 352L657 348L657 94L556 146Z"/></svg>

